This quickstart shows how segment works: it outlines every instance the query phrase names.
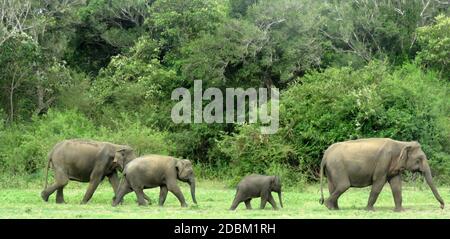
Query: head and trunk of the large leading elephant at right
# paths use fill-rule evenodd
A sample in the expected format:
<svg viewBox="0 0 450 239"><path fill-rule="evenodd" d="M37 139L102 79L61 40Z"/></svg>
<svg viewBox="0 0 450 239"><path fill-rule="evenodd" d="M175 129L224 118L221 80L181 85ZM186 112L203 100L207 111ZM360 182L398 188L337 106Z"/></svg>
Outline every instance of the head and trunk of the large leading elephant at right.
<svg viewBox="0 0 450 239"><path fill-rule="evenodd" d="M418 142L408 142L405 144L400 151L400 155L393 161L392 170L394 173L399 173L403 170L422 173L434 197L441 204L441 208L444 208L444 200L442 200L433 183L427 156Z"/></svg>

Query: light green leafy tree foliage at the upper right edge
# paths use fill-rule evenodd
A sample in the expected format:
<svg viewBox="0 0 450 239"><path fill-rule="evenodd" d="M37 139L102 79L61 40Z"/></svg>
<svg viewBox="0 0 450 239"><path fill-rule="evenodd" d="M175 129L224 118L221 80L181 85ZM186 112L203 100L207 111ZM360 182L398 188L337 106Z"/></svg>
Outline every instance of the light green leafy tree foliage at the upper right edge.
<svg viewBox="0 0 450 239"><path fill-rule="evenodd" d="M436 24L418 28L417 34L422 46L417 54L417 60L450 79L450 17L437 16Z"/></svg>

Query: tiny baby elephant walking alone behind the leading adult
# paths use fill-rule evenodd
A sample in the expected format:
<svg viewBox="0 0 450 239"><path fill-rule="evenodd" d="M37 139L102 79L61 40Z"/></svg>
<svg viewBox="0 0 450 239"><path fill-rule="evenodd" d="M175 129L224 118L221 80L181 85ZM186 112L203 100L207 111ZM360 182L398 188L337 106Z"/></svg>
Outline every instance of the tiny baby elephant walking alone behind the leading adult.
<svg viewBox="0 0 450 239"><path fill-rule="evenodd" d="M252 209L250 201L253 198L261 197L261 209L264 209L269 202L273 209L277 208L277 203L272 197L272 192L278 193L280 206L283 207L281 200L281 180L278 176L264 176L252 174L244 177L237 185L236 196L230 210L235 210L239 203L245 202L247 209Z"/></svg>

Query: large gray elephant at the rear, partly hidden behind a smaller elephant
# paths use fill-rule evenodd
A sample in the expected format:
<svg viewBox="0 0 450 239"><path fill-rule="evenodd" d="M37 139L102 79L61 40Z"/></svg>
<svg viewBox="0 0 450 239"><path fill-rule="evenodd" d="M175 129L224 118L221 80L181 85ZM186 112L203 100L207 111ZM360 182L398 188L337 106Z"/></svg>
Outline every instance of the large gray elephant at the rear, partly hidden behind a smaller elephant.
<svg viewBox="0 0 450 239"><path fill-rule="evenodd" d="M133 149L127 145L80 139L59 142L48 156L45 187L41 197L48 201L49 196L56 191L56 203L64 203L63 189L69 180L89 182L81 202L85 204L105 176L116 194L119 186L117 169L122 171L134 158ZM55 182L47 188L50 163L53 165Z"/></svg>

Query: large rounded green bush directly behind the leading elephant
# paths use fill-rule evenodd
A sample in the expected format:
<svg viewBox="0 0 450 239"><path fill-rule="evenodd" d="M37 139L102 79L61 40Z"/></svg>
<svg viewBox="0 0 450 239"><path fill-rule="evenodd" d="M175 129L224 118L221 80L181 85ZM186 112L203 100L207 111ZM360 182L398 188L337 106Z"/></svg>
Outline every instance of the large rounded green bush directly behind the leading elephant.
<svg viewBox="0 0 450 239"><path fill-rule="evenodd" d="M280 97L280 129L255 126L218 143L235 179L278 173L315 180L323 151L339 141L389 137L419 141L435 173L450 175L449 84L413 64L390 70L372 62L360 70L329 68L292 84Z"/></svg>

